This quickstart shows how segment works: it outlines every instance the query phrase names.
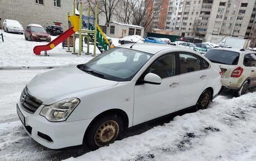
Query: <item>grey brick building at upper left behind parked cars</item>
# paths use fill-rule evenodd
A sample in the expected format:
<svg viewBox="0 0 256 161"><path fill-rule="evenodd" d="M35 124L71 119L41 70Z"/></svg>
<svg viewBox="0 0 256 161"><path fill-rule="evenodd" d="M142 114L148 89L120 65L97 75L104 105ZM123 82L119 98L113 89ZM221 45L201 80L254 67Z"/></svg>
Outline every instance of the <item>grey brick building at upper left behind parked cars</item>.
<svg viewBox="0 0 256 161"><path fill-rule="evenodd" d="M43 27L61 24L64 30L67 26L67 12L72 14L70 0L19 0L0 1L0 22L4 19L17 20L25 28L29 24L39 24Z"/></svg>

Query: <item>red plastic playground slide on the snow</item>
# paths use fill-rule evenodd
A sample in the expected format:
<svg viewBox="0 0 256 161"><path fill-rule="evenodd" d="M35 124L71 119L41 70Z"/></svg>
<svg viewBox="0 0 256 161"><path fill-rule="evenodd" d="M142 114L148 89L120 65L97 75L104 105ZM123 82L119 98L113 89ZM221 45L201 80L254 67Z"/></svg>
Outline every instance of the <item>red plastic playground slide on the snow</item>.
<svg viewBox="0 0 256 161"><path fill-rule="evenodd" d="M69 36L75 33L73 30L74 27L70 27L67 31L62 33L60 36L58 36L56 39L52 40L52 42L49 42L47 45L39 45L35 46L33 51L36 55L40 55L42 51L45 50L51 50L54 47L56 47L58 44L62 43L65 39L67 39Z"/></svg>

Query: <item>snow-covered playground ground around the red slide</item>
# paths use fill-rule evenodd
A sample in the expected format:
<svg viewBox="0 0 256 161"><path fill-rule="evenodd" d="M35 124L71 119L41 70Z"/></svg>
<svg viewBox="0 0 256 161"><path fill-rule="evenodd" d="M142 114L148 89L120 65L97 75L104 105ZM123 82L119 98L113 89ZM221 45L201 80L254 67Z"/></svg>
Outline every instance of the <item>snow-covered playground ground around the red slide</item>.
<svg viewBox="0 0 256 161"><path fill-rule="evenodd" d="M0 42L0 69L12 68L47 68L47 67L65 67L86 63L93 57L86 55L87 45L84 44L84 52L80 57L77 55L66 52L67 48L62 48L62 44L57 45L54 49L49 50L49 57L45 57L43 52L41 56L36 56L33 53L33 48L36 45L45 45L47 42L30 42L26 41L24 35L3 33L4 42ZM57 36L52 36L52 40ZM78 52L79 40L76 39L76 52ZM113 44L118 44L117 39L113 39ZM71 48L72 50L72 48ZM93 53L93 45L90 45L90 53ZM96 54L99 54L98 48Z"/></svg>

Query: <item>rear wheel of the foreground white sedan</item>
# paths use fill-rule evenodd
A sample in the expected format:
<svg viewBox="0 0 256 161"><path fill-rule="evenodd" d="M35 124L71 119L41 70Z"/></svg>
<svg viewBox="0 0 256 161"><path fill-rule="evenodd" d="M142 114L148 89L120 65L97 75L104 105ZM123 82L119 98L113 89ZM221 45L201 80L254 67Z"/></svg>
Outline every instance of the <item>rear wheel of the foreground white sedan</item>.
<svg viewBox="0 0 256 161"><path fill-rule="evenodd" d="M211 101L211 91L208 89L205 89L203 93L199 96L198 101L196 102L196 105L195 105L196 110L207 108L210 101Z"/></svg>

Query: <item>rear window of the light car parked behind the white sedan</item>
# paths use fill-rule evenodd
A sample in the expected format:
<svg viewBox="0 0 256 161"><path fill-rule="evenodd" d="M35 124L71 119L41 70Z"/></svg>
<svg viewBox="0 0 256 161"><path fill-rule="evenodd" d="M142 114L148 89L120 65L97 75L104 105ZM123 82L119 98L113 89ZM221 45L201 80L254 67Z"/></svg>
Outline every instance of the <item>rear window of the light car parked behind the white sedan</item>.
<svg viewBox="0 0 256 161"><path fill-rule="evenodd" d="M227 50L209 50L204 56L213 63L220 63L223 65L237 65L239 60L239 53Z"/></svg>

